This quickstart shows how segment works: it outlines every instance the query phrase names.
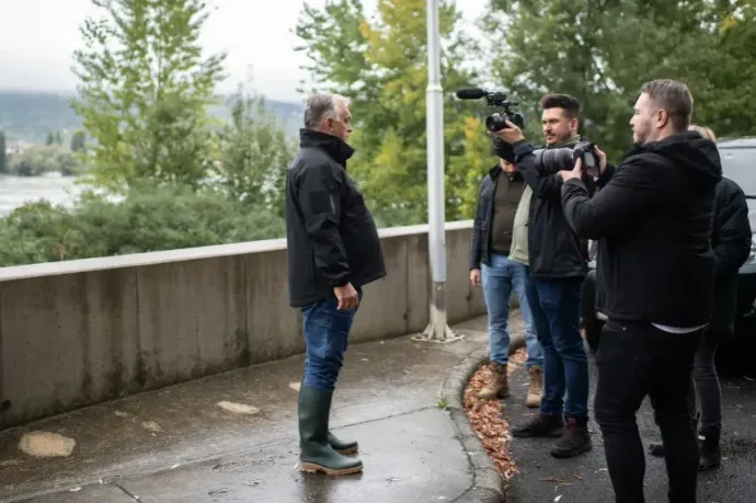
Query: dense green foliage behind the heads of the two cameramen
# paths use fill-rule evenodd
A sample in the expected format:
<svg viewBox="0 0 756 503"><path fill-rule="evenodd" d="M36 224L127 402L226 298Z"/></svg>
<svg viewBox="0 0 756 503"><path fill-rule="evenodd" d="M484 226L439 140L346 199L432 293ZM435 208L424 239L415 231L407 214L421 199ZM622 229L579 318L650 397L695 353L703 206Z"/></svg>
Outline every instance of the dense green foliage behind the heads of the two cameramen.
<svg viewBox="0 0 756 503"><path fill-rule="evenodd" d="M616 159L630 147L632 103L653 79L685 81L694 121L718 135L756 133L746 49L756 43L754 21L743 0L492 0L483 25L500 48L494 80L525 105L528 137L541 138L540 96L569 93L584 106L581 133Z"/></svg>

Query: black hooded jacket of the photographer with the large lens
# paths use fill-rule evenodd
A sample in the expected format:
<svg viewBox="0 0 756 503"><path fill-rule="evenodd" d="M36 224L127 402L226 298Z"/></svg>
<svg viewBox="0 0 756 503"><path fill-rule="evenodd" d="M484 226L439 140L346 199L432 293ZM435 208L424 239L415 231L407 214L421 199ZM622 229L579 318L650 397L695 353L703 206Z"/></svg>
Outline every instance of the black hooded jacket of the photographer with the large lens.
<svg viewBox="0 0 756 503"><path fill-rule="evenodd" d="M684 133L635 147L593 197L562 187L564 214L599 240L596 308L610 319L672 327L707 324L712 312L717 146Z"/></svg>

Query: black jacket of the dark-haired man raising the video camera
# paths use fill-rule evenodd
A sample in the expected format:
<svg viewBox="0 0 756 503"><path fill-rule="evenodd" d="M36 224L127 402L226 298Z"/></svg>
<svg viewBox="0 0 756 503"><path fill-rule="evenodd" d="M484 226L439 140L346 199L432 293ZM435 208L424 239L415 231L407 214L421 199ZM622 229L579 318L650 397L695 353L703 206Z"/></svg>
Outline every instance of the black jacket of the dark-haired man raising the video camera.
<svg viewBox="0 0 756 503"><path fill-rule="evenodd" d="M585 277L588 272L587 241L570 227L562 210L562 179L536 165L536 148L527 141L514 144L515 164L532 190L528 215L528 262L530 274L541 278ZM592 182L584 178L593 193Z"/></svg>

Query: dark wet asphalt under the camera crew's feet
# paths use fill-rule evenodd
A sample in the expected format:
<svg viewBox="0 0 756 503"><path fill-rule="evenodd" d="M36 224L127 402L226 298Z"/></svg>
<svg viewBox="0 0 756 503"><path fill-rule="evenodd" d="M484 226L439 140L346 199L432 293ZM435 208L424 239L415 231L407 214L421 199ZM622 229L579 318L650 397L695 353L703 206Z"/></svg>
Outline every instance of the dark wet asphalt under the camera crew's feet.
<svg viewBox="0 0 756 503"><path fill-rule="evenodd" d="M596 374L593 359L592 388ZM511 424L526 420L532 411L522 407L526 375L515 373L513 396L505 400L505 415ZM756 382L747 379L728 379L722 382L724 432L722 449L724 460L718 470L699 476L699 503L756 502ZM593 400L593 395L592 395ZM591 403L593 415L593 403ZM638 414L638 424L648 451L648 444L658 442L658 430L652 409L644 401ZM615 501L604 456L604 442L598 425L589 424L593 450L572 459L555 459L549 454L553 439L513 438L511 451L519 473L511 493L517 503L609 503ZM569 483L563 483L569 482ZM667 477L664 460L646 455L646 503L666 503Z"/></svg>

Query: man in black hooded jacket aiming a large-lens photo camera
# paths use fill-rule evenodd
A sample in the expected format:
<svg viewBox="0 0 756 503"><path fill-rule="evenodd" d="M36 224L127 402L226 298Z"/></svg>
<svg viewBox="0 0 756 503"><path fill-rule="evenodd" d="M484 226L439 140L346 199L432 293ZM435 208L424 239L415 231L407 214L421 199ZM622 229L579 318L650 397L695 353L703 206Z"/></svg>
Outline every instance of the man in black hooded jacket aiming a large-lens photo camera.
<svg viewBox="0 0 756 503"><path fill-rule="evenodd" d="M645 501L635 413L646 395L667 451L669 501L696 501L688 397L712 312L712 213L722 167L714 142L687 130L691 114L684 83L646 82L630 121L635 146L616 170L599 155L603 188L588 197L581 161L560 172L564 215L580 236L599 240L596 307L608 320L594 410L622 503Z"/></svg>

